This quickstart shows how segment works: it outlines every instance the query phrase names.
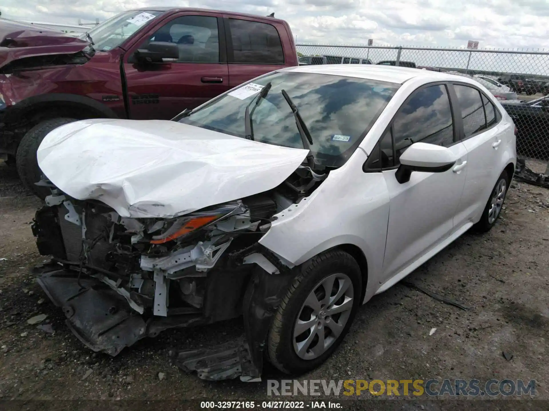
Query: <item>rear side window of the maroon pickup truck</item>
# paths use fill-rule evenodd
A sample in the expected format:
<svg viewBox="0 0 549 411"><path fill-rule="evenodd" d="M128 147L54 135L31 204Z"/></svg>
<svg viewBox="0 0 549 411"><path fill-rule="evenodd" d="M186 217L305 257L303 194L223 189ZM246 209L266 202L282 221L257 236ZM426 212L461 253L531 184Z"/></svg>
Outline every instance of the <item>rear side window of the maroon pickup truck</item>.
<svg viewBox="0 0 549 411"><path fill-rule="evenodd" d="M275 26L259 21L229 19L233 61L247 64L284 64L282 42Z"/></svg>

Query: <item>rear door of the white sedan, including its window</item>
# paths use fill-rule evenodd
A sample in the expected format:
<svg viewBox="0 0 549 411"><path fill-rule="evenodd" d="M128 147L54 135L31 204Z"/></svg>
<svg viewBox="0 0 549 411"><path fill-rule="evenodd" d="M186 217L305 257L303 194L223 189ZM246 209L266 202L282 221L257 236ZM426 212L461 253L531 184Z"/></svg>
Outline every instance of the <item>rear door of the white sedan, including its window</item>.
<svg viewBox="0 0 549 411"><path fill-rule="evenodd" d="M453 84L456 111L463 123L461 141L467 149L467 179L461 197L458 224L475 221L483 212L492 188L501 173L500 146L508 127L484 93L466 84Z"/></svg>

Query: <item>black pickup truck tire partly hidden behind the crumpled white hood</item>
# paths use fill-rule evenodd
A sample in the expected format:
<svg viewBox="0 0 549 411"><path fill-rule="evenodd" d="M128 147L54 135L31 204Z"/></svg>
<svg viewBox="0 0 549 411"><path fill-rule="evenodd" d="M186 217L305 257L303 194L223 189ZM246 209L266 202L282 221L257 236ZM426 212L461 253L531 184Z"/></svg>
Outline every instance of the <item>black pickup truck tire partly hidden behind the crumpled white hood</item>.
<svg viewBox="0 0 549 411"><path fill-rule="evenodd" d="M31 128L21 139L15 157L17 173L23 185L41 199L46 198L51 191L47 187L35 185L42 179L42 170L38 167L36 151L44 137L60 125L77 121L75 118L52 118L42 121Z"/></svg>

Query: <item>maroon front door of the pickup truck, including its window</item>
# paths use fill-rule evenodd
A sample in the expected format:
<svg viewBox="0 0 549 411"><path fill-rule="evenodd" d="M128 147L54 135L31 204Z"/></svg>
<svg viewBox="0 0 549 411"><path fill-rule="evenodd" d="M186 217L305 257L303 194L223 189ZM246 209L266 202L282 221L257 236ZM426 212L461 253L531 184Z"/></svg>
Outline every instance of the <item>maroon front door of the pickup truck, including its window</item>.
<svg viewBox="0 0 549 411"><path fill-rule="evenodd" d="M177 61L140 64L149 41L176 43ZM220 13L182 12L152 27L125 56L130 118L170 119L229 89L225 31Z"/></svg>

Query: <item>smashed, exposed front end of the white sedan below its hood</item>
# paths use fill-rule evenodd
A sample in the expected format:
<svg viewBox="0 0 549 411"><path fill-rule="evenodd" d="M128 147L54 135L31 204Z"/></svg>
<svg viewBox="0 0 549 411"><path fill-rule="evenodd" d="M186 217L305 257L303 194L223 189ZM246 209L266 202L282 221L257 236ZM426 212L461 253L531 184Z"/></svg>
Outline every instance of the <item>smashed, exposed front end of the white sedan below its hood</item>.
<svg viewBox="0 0 549 411"><path fill-rule="evenodd" d="M256 380L271 318L294 275L258 241L325 176L299 167L275 189L175 218L122 217L53 189L32 225L40 254L53 256L36 269L38 283L82 343L112 356L167 328L242 315L241 340L176 350L172 359L200 378Z"/></svg>

